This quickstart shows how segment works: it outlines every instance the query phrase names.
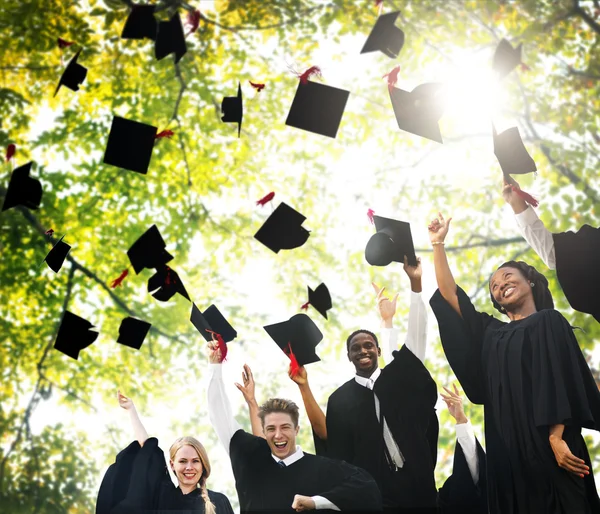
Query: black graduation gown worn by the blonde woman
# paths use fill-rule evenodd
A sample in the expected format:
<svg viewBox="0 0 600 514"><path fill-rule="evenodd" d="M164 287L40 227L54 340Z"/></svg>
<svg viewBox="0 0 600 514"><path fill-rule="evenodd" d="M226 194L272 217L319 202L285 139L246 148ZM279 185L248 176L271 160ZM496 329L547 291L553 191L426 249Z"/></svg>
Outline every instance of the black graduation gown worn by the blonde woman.
<svg viewBox="0 0 600 514"><path fill-rule="evenodd" d="M217 514L233 514L224 494L208 490ZM121 451L100 485L96 514L204 513L200 490L183 494L173 486L163 451L155 437L140 448L137 441Z"/></svg>

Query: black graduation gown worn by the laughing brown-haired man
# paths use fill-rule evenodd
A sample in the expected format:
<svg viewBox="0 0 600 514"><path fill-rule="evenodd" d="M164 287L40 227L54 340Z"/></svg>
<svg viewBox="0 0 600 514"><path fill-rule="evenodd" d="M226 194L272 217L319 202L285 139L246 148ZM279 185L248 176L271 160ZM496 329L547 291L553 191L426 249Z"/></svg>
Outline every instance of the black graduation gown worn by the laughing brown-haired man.
<svg viewBox="0 0 600 514"><path fill-rule="evenodd" d="M231 438L229 454L242 514L295 512L296 494L322 496L342 512L381 511L381 495L373 478L346 462L305 453L281 468L265 439L241 429Z"/></svg>

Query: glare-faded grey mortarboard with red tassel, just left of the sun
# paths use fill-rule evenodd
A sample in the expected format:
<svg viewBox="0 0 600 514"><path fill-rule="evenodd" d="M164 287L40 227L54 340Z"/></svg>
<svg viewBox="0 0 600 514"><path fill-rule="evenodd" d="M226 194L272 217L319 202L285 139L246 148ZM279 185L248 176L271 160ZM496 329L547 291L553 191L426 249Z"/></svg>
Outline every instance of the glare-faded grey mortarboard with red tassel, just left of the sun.
<svg viewBox="0 0 600 514"><path fill-rule="evenodd" d="M442 88L441 84L435 83L420 84L411 92L390 88L390 99L398 127L411 134L443 143L438 126L444 110L439 97Z"/></svg>

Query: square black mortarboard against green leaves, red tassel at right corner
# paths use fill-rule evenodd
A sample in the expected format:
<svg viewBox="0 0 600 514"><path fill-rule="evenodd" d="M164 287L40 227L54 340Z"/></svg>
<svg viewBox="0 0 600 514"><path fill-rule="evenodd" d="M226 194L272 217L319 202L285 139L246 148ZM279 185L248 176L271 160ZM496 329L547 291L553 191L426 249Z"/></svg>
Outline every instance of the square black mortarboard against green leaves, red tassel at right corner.
<svg viewBox="0 0 600 514"><path fill-rule="evenodd" d="M104 163L145 175L150 166L157 128L120 116L113 118Z"/></svg>

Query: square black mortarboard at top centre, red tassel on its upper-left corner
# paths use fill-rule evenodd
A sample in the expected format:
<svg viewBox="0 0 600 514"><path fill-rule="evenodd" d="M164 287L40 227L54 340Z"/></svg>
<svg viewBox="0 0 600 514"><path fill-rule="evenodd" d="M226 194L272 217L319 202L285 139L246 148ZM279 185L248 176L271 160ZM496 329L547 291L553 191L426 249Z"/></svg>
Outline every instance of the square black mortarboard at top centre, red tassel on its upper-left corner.
<svg viewBox="0 0 600 514"><path fill-rule="evenodd" d="M285 124L335 138L350 91L300 81Z"/></svg>

